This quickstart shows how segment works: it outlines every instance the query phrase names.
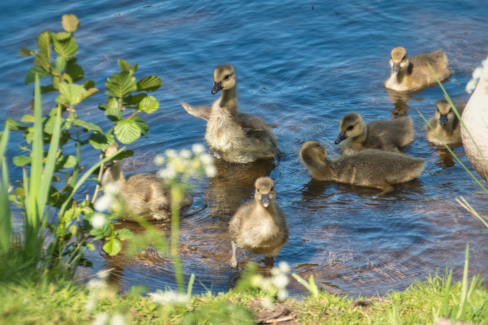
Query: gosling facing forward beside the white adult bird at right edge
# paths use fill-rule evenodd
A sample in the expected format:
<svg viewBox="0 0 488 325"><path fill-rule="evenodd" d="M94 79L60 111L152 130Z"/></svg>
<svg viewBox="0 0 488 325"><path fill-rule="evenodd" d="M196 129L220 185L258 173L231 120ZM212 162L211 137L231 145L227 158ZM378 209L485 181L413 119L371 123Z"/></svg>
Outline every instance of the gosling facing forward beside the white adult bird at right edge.
<svg viewBox="0 0 488 325"><path fill-rule="evenodd" d="M448 146L461 146L461 123L452 111L451 105L449 105L446 99L441 99L437 101L435 106L437 110L428 123ZM456 109L460 115L463 114L465 106L465 102L456 103ZM425 130L427 131L427 141L436 146L444 146L439 137L437 137L427 124Z"/></svg>

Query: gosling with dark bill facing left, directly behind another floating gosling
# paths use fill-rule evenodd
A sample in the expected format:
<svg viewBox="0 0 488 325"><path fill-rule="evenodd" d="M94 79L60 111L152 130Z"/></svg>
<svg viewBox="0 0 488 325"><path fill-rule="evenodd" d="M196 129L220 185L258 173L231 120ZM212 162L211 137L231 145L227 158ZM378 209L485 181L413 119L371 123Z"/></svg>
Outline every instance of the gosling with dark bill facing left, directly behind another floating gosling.
<svg viewBox="0 0 488 325"><path fill-rule="evenodd" d="M357 113L348 113L341 119L341 133L335 144L341 144L341 154L358 153L364 149L398 152L414 140L412 119L407 116L379 119L365 123Z"/></svg>

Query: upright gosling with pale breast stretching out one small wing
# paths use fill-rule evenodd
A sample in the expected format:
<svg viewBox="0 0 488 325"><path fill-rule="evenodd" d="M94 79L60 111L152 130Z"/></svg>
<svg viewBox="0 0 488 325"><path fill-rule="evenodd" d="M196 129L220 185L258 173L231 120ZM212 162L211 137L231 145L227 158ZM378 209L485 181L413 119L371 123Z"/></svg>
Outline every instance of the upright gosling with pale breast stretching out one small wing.
<svg viewBox="0 0 488 325"><path fill-rule="evenodd" d="M186 112L207 120L205 140L214 153L236 163L275 157L278 153L276 138L269 129L278 125L237 112L237 80L234 67L229 64L219 65L214 70L212 94L219 91L221 96L211 107L193 107L180 102Z"/></svg>

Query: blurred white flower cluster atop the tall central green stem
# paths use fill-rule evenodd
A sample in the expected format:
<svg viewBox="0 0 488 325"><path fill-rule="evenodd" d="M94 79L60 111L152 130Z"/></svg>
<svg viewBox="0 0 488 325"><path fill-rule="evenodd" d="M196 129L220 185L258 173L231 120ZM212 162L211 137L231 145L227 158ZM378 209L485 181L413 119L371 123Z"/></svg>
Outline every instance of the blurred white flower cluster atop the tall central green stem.
<svg viewBox="0 0 488 325"><path fill-rule="evenodd" d="M190 177L200 177L203 173L208 177L214 177L217 169L213 164L212 156L204 151L205 148L201 144L194 144L191 152L187 149L182 149L180 152L168 149L164 154L158 154L154 162L164 166L158 175L166 183L171 183L173 180L186 182Z"/></svg>

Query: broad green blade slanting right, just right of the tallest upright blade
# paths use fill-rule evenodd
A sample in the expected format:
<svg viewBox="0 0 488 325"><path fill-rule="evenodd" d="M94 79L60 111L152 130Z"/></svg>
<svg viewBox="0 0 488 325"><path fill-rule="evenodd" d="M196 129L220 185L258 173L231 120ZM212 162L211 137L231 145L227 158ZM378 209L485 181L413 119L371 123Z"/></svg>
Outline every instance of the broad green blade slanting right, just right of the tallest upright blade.
<svg viewBox="0 0 488 325"><path fill-rule="evenodd" d="M37 197L38 215L40 217L44 214L44 207L46 206L47 196L49 194L49 189L51 188L51 180L53 178L54 169L56 168L56 156L58 154L61 133L61 114L61 105L58 104L58 114L54 121L51 143L49 144L49 151L47 152L44 172L42 173L41 178L41 187Z"/></svg>

